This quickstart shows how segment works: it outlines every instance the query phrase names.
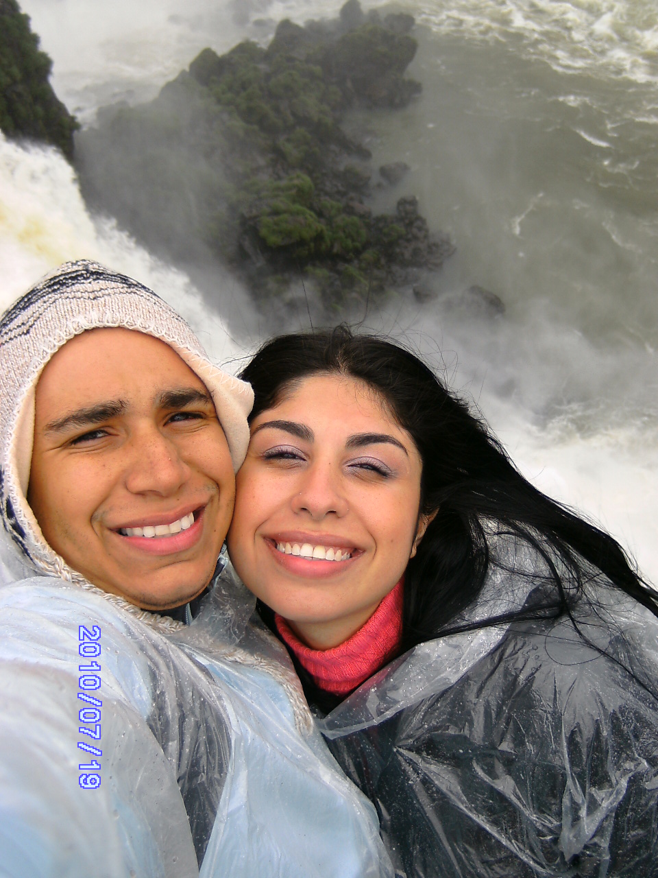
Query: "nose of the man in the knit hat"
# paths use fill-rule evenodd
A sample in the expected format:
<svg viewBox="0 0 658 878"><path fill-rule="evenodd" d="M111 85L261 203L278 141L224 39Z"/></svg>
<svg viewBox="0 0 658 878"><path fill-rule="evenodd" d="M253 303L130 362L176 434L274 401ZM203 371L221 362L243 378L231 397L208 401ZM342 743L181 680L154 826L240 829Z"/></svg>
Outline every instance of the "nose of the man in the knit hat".
<svg viewBox="0 0 658 878"><path fill-rule="evenodd" d="M175 443L152 426L136 431L129 443L125 486L131 493L175 493L190 478L190 467Z"/></svg>

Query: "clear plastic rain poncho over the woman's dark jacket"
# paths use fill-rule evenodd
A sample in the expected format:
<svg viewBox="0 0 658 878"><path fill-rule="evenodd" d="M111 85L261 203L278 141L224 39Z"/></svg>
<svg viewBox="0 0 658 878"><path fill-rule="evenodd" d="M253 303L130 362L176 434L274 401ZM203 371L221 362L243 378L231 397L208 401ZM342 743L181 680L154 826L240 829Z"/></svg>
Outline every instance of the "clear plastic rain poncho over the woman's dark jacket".
<svg viewBox="0 0 658 878"><path fill-rule="evenodd" d="M455 623L483 627L419 644L320 730L406 878L658 875L658 619L597 572L551 618L538 554L490 544Z"/></svg>

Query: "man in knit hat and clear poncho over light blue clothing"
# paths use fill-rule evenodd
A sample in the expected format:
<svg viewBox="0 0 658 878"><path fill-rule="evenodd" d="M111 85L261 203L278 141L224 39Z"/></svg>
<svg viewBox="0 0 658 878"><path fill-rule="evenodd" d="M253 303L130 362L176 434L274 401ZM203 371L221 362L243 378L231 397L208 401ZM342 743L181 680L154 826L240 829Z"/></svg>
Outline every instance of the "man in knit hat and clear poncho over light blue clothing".
<svg viewBox="0 0 658 878"><path fill-rule="evenodd" d="M218 563L252 399L96 263L0 319L3 875L392 874Z"/></svg>

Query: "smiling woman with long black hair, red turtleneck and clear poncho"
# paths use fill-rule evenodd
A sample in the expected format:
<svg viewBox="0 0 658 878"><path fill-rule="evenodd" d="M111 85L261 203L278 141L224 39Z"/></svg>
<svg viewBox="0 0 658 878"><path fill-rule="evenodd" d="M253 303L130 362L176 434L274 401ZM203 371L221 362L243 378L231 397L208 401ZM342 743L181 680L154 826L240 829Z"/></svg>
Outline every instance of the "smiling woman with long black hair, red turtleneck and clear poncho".
<svg viewBox="0 0 658 878"><path fill-rule="evenodd" d="M658 875L658 607L618 544L395 344L242 377L232 562L398 872Z"/></svg>

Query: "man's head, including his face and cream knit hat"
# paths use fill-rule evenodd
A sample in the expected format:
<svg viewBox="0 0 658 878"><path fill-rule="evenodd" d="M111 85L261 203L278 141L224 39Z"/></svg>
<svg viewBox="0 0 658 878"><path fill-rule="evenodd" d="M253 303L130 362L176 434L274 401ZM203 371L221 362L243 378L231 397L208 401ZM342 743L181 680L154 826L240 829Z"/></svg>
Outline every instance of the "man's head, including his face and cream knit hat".
<svg viewBox="0 0 658 878"><path fill-rule="evenodd" d="M94 263L62 266L4 314L0 364L2 507L25 555L139 608L202 592L250 387L152 291Z"/></svg>

